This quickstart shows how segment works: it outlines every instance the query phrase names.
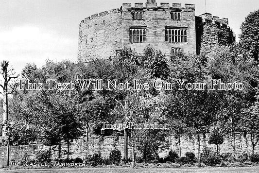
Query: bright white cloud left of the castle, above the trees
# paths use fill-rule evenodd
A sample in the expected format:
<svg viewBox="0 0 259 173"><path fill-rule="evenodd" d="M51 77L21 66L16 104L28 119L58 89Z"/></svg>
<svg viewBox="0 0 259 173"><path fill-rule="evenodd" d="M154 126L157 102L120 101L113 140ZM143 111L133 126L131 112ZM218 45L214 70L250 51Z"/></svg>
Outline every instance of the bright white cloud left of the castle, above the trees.
<svg viewBox="0 0 259 173"><path fill-rule="evenodd" d="M58 35L35 26L0 31L0 60L7 59L19 72L26 63L41 67L47 58L60 61L77 58L77 39Z"/></svg>

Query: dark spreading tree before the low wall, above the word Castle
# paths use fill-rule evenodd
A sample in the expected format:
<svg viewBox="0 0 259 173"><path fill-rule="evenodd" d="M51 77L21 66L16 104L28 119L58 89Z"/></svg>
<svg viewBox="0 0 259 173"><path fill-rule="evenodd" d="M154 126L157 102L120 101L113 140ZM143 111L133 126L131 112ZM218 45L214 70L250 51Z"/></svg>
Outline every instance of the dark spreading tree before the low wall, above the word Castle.
<svg viewBox="0 0 259 173"><path fill-rule="evenodd" d="M79 108L78 96L71 92L55 93L43 90L35 104L35 110L40 115L39 121L44 124L43 132L47 140L45 143L52 145L56 142L60 145L61 140L65 140L68 160L70 141L83 135L82 122L78 116Z"/></svg>

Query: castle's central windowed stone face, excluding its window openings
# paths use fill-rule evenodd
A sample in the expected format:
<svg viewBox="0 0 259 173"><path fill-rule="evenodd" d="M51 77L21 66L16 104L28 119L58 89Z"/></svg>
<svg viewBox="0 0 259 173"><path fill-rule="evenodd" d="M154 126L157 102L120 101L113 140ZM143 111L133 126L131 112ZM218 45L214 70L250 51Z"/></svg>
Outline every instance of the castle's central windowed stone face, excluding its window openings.
<svg viewBox="0 0 259 173"><path fill-rule="evenodd" d="M195 37L195 11L193 4L173 4L161 3L158 7L156 3L146 4L146 7L131 7L131 4L122 5L122 45L131 47L137 52L143 52L143 49L152 44L155 49L170 55L172 48L181 48L183 52L196 53L196 37ZM132 11L141 10L143 12L143 20L132 20ZM180 20L172 20L171 12L180 12ZM146 42L131 43L130 27L146 27ZM175 27L175 29L187 28L187 42L166 42L165 27Z"/></svg>

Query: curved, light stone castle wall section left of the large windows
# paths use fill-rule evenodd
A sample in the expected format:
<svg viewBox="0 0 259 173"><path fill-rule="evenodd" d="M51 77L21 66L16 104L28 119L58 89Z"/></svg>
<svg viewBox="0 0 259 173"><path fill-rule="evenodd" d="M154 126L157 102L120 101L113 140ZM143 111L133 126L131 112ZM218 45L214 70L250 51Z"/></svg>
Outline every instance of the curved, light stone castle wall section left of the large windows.
<svg viewBox="0 0 259 173"><path fill-rule="evenodd" d="M79 25L78 61L114 57L122 47L121 39L119 9L85 18Z"/></svg>

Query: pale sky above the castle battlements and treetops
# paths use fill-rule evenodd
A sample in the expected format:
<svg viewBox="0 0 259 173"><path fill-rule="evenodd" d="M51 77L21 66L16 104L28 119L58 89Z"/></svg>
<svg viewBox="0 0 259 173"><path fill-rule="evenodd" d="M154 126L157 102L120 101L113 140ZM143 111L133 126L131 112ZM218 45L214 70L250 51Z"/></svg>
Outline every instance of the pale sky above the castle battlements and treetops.
<svg viewBox="0 0 259 173"><path fill-rule="evenodd" d="M9 60L19 73L26 63L42 67L46 59L77 61L78 25L96 13L120 8L122 3L146 0L0 0L0 61ZM226 17L235 34L245 17L259 9L259 0L156 0L193 3L195 15L205 12Z"/></svg>

